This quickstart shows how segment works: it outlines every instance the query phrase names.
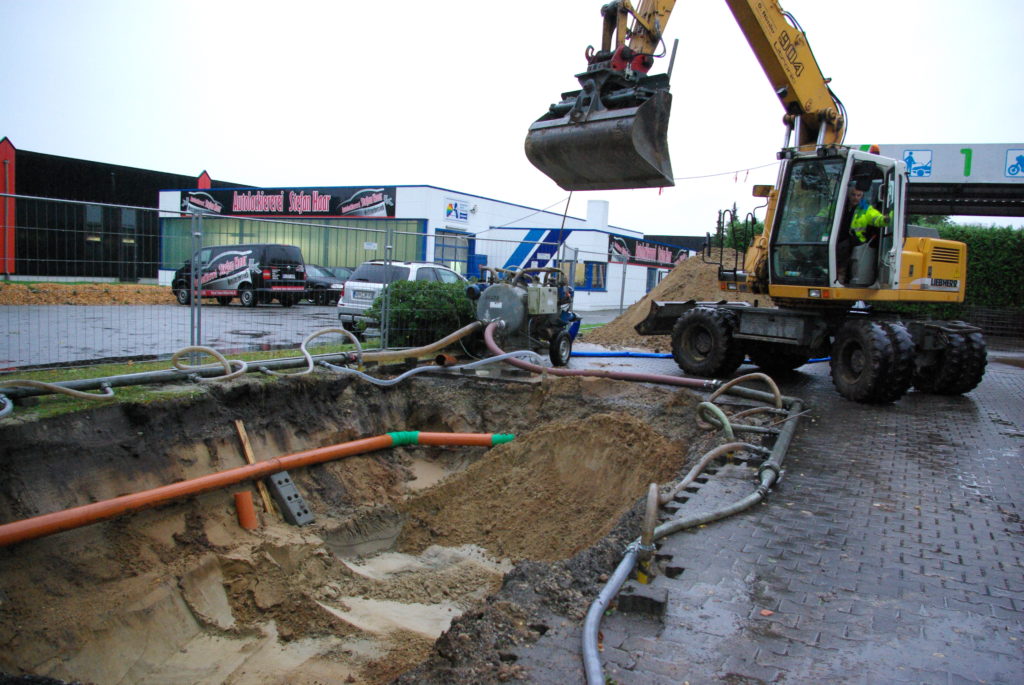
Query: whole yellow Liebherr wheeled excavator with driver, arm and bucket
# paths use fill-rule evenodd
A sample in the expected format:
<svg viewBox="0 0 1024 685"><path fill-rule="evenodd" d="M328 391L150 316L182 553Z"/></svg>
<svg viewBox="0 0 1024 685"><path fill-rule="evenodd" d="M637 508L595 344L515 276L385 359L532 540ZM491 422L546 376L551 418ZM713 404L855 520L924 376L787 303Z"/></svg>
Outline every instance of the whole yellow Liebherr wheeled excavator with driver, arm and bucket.
<svg viewBox="0 0 1024 685"><path fill-rule="evenodd" d="M778 96L785 131L775 185L754 188L766 201L764 230L741 264L719 257L719 282L726 295L764 294L774 306L655 301L637 332L671 334L676 362L697 376L727 377L748 357L783 374L827 356L837 391L857 402L896 401L911 386L975 388L986 366L981 329L885 311L889 303L963 302L967 246L907 225L902 160L844 144L845 108L796 18L777 0L725 2ZM563 93L526 135L527 159L562 188L673 185L672 67L650 71L667 53L675 4L601 8L601 47L587 49L580 89Z"/></svg>

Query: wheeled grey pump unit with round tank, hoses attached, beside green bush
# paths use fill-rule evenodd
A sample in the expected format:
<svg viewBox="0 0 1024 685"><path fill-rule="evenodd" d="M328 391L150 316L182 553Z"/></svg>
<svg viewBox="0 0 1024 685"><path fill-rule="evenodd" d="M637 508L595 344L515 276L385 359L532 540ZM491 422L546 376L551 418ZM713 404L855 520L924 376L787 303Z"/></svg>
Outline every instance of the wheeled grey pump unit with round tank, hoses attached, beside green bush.
<svg viewBox="0 0 1024 685"><path fill-rule="evenodd" d="M496 339L503 349L548 350L551 362L564 367L581 318L572 311L572 287L560 269L531 267L480 269L480 283L466 289L476 301L476 317L484 324L503 322Z"/></svg>

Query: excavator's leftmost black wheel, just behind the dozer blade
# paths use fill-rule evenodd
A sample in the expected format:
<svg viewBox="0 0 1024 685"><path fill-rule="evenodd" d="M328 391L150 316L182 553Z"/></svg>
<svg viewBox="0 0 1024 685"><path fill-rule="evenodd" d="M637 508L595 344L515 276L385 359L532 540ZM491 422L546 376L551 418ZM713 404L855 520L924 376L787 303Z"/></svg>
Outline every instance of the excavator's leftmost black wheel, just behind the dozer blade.
<svg viewBox="0 0 1024 685"><path fill-rule="evenodd" d="M735 315L725 309L696 307L672 329L672 356L688 374L721 378L743 361L742 343L732 337Z"/></svg>

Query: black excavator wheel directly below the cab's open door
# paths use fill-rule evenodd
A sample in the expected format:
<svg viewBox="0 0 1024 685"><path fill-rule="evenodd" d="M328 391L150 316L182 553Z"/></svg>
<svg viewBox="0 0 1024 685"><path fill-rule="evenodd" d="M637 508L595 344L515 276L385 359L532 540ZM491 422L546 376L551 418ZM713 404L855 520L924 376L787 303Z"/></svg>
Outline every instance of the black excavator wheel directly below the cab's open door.
<svg viewBox="0 0 1024 685"><path fill-rule="evenodd" d="M887 374L893 363L893 344L878 322L851 319L836 333L831 351L833 385L855 402L892 401Z"/></svg>

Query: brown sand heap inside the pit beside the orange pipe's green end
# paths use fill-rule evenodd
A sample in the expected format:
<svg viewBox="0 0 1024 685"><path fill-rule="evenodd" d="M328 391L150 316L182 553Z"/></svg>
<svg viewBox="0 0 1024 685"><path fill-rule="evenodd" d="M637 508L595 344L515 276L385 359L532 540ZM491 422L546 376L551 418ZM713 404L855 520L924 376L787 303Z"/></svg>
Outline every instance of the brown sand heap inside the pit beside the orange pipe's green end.
<svg viewBox="0 0 1024 685"><path fill-rule="evenodd" d="M443 540L499 557L564 559L606 534L647 483L670 478L679 452L628 415L542 426L400 507L409 519L399 545L419 552Z"/></svg>

